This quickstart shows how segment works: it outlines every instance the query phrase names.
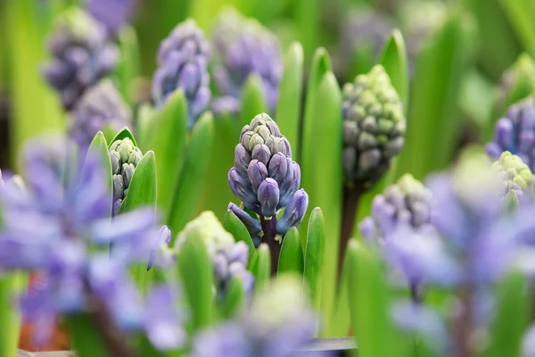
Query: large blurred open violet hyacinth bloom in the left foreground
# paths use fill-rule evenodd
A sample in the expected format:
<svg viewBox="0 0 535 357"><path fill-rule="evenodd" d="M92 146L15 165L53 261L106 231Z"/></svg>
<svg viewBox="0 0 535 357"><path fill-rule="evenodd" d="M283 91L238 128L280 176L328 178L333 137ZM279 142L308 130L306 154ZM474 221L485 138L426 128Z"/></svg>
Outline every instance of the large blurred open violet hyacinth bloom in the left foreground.
<svg viewBox="0 0 535 357"><path fill-rule="evenodd" d="M139 209L111 220L102 162L89 154L78 172L72 148L62 137L29 143L26 187L6 185L0 195L0 270L43 275L21 296L37 342L50 337L60 314L98 313L89 306L97 299L117 327L144 330L156 347L176 348L184 336L183 315L173 304L177 290L157 286L144 301L128 273L128 263L147 263L158 244L157 215ZM161 334L169 328L176 333Z"/></svg>

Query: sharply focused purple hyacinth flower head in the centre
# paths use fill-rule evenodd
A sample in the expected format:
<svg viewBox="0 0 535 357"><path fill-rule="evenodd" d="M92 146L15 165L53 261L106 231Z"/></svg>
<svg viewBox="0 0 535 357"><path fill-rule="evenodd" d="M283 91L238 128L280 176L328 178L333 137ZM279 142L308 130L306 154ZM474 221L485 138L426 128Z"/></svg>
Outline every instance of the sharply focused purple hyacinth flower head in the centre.
<svg viewBox="0 0 535 357"><path fill-rule="evenodd" d="M309 205L309 195L300 187L300 166L292 161L290 143L268 114L262 113L242 129L235 147L235 166L228 172L228 184L244 207L269 222L272 233L284 235L298 227ZM279 220L276 214L284 208ZM243 221L259 243L260 223L231 204L229 209ZM263 232L266 233L266 232Z"/></svg>

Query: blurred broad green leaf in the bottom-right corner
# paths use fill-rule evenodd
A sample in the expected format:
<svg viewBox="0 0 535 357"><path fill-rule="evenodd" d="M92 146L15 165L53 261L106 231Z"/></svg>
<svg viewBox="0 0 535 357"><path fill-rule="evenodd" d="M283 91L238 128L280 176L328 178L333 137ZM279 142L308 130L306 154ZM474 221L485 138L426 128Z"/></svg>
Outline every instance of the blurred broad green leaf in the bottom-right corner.
<svg viewBox="0 0 535 357"><path fill-rule="evenodd" d="M490 348L485 357L520 356L523 334L530 322L531 285L519 272L508 275L497 290L497 306Z"/></svg>

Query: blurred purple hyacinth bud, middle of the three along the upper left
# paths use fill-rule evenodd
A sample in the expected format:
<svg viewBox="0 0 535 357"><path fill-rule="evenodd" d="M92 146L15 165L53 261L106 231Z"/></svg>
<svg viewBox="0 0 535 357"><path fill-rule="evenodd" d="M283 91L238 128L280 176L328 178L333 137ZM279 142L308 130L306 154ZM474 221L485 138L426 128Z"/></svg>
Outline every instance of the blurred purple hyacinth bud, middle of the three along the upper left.
<svg viewBox="0 0 535 357"><path fill-rule="evenodd" d="M171 93L182 89L190 129L210 103L209 62L209 45L202 29L191 19L178 24L158 50L158 69L152 77L154 102L161 107Z"/></svg>

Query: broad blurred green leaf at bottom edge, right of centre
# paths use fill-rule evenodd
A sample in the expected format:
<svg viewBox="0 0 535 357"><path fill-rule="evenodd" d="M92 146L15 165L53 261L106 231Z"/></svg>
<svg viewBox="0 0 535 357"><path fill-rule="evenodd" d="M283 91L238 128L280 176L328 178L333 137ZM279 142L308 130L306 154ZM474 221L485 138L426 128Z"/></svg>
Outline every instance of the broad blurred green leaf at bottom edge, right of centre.
<svg viewBox="0 0 535 357"><path fill-rule="evenodd" d="M347 251L351 322L362 357L398 356L400 336L391 319L392 292L381 263L358 240Z"/></svg>

